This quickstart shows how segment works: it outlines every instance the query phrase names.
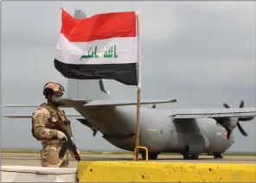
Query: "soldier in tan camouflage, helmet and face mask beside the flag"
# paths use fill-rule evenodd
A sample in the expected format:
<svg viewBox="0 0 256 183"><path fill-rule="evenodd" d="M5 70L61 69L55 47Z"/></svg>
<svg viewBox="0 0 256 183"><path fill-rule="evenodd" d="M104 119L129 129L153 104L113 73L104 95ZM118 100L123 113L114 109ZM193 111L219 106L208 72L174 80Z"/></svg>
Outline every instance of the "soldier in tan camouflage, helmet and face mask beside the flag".
<svg viewBox="0 0 256 183"><path fill-rule="evenodd" d="M63 93L64 88L61 84L48 82L43 88L47 103L41 104L32 116L32 135L42 143L42 167L68 167L67 152L62 159L59 158L61 143L67 139L67 136L61 132L58 124L67 130L74 142L70 121L65 112L58 107ZM73 155L72 152L71 155Z"/></svg>

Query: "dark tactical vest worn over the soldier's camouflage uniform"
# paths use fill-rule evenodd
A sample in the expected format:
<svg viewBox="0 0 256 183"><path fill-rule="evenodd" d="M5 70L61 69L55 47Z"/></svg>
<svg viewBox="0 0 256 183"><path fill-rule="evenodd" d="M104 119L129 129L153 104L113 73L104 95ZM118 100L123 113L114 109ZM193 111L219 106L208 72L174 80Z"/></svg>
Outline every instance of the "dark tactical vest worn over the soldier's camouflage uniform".
<svg viewBox="0 0 256 183"><path fill-rule="evenodd" d="M48 117L48 119L47 119L48 121L46 122L46 126L45 126L46 129L57 129L60 131L61 131L61 129L65 129L70 137L73 136L71 127L70 127L70 121L67 119L64 110L62 110L62 112L63 112L62 113L61 110L54 109L51 105L46 104L46 103L41 104L40 107L47 109L50 113L50 117ZM33 113L33 115L34 115L34 113ZM39 136L35 136L33 118L32 118L31 132L32 132L32 136L34 136L35 139L37 139L38 141L46 140ZM54 137L51 140L54 140L54 139L57 139L57 138Z"/></svg>

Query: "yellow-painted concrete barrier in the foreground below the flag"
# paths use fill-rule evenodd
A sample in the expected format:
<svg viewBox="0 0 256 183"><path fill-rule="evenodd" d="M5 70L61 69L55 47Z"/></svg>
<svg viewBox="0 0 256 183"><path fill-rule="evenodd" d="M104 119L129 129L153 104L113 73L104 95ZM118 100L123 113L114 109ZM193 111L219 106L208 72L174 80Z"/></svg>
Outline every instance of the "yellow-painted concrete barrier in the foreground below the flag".
<svg viewBox="0 0 256 183"><path fill-rule="evenodd" d="M80 182L256 182L255 164L80 161Z"/></svg>

